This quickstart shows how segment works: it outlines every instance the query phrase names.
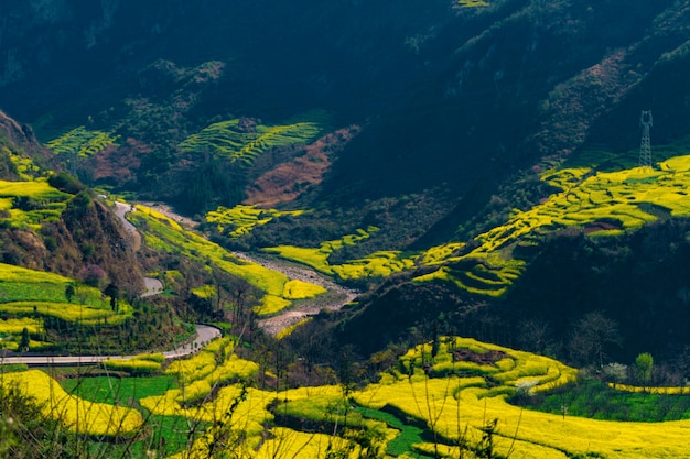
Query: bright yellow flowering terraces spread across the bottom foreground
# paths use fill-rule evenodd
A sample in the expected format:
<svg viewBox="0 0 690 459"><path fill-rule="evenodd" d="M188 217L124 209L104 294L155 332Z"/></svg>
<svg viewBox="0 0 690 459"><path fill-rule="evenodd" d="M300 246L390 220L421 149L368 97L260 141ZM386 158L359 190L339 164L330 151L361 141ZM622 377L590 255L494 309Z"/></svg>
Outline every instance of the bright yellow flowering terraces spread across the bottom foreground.
<svg viewBox="0 0 690 459"><path fill-rule="evenodd" d="M234 347L229 338L212 342L194 358L165 370L177 380L175 384L165 380L160 390L142 392L118 408L68 395L35 370L6 374L0 383L21 381L22 391L45 398L46 406L53 406L46 414L72 429L77 423L69 413L78 405L78 431L91 435L128 437L151 431L141 426L142 418L187 419L187 425L197 426L186 445L166 449L169 458L207 457L224 447L248 458L277 457L277 451L279 457L325 458L334 450L474 458L487 451L482 448L489 430L493 457L678 458L687 450L690 420L603 422L510 405L508 395L529 396L562 386L576 378L576 371L546 357L473 339L441 337L436 346L410 349L381 373L379 382L351 389L349 398L341 385L276 392L248 384L263 378L260 367L239 359ZM55 394L63 408L56 409L56 402L45 393ZM95 391L80 393L107 400ZM145 416L129 405L141 406ZM119 430L112 430L109 419L121 422ZM316 426L330 434L315 434ZM420 429L425 434L420 436ZM402 451L400 445L407 445Z"/></svg>

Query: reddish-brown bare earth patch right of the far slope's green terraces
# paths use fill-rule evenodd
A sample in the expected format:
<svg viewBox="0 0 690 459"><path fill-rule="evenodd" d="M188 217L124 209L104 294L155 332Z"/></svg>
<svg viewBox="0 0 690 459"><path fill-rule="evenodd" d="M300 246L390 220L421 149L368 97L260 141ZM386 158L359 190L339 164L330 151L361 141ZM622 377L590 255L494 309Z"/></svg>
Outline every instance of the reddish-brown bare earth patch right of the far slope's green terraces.
<svg viewBox="0 0 690 459"><path fill-rule="evenodd" d="M358 125L326 134L304 149L304 154L281 163L247 188L244 204L274 207L297 199L312 185L319 185L337 152L360 131Z"/></svg>

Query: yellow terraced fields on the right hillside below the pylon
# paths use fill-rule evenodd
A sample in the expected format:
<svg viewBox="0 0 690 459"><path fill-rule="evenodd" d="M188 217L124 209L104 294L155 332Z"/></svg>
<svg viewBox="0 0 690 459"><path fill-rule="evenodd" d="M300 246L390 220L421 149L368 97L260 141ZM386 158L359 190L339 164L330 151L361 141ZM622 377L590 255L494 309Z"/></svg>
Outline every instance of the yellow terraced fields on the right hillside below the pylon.
<svg viewBox="0 0 690 459"><path fill-rule="evenodd" d="M590 167L552 170L542 179L560 188L528 210L515 210L504 225L475 238L476 248L432 248L421 260L441 266L417 282L444 280L478 295L503 296L525 270L514 249L538 245L541 238L575 228L591 237L622 234L659 218L690 216L690 156L671 157L658 168L596 172Z"/></svg>

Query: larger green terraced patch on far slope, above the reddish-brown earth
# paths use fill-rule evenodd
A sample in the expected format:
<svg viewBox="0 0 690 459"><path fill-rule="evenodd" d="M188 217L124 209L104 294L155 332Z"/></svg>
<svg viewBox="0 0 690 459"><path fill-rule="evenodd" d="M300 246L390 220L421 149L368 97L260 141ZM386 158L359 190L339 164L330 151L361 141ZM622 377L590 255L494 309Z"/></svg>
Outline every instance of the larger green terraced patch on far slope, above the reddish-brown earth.
<svg viewBox="0 0 690 459"><path fill-rule="evenodd" d="M327 129L328 117L324 112L310 112L284 124L263 125L249 119L222 121L191 135L180 149L184 152L209 152L244 165L271 149L310 143Z"/></svg>

